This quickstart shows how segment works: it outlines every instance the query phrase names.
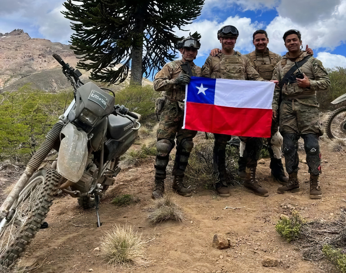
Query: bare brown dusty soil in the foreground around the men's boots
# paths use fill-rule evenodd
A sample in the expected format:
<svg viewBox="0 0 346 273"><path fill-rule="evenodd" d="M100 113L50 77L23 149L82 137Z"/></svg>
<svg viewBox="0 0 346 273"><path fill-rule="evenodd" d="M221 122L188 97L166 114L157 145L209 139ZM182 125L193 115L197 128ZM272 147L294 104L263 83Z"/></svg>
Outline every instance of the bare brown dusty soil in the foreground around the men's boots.
<svg viewBox="0 0 346 273"><path fill-rule="evenodd" d="M297 209L309 219L326 221L338 217L345 207L346 154L329 152L324 143L320 176L323 198L309 198L308 167L300 163L301 192L280 195L280 186L269 175L269 159L259 164L258 173L268 187L268 197L232 188L228 198L216 198L211 190L196 191L192 197L177 195L187 220L151 225L148 209L153 207L153 164L151 158L143 165L121 172L100 204L102 226L96 227L95 211L83 211L77 200L58 198L47 217L49 227L41 230L23 255L24 263L43 262L37 273L88 272L319 272L318 266L302 259L294 243L287 243L275 231L280 214L289 215ZM305 158L300 151L300 157ZM172 177L166 179L166 190ZM116 195L133 194L141 201L116 207L111 200ZM230 207L244 207L224 209ZM131 225L135 231L151 240L146 253L152 263L136 270L110 269L95 248L100 246L102 233L112 225ZM232 246L217 250L211 246L215 233L226 234ZM276 267L262 266L262 260L272 257L281 261Z"/></svg>

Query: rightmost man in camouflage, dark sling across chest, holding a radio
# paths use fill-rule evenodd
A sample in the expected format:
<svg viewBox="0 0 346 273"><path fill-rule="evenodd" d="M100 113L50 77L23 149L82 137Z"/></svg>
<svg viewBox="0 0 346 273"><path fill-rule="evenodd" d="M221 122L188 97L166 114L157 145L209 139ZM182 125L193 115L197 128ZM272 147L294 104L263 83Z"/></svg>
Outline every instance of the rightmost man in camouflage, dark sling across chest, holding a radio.
<svg viewBox="0 0 346 273"><path fill-rule="evenodd" d="M279 80L281 87L275 87L273 116L276 117L279 108L280 132L289 179L286 185L277 189L277 193L300 191L297 150L298 139L302 137L310 173L310 198L319 199L322 192L318 180L321 172L318 137L323 133L319 123L316 91L326 89L330 80L322 62L301 50L301 34L298 30L286 31L283 40L288 52L273 72L273 79Z"/></svg>

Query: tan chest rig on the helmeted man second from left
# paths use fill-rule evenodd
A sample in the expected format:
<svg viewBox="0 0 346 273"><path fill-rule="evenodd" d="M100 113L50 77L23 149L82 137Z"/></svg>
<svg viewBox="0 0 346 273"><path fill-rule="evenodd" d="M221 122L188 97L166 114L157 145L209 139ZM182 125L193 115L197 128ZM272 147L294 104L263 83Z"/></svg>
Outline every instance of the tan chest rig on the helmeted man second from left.
<svg viewBox="0 0 346 273"><path fill-rule="evenodd" d="M219 60L220 78L245 80L245 66L239 55L221 55Z"/></svg>

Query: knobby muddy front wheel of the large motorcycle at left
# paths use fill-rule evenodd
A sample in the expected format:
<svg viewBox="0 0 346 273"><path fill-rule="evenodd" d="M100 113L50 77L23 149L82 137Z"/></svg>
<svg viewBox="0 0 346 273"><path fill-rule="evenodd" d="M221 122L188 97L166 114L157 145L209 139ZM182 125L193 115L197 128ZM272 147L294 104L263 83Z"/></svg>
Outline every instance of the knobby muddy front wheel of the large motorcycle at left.
<svg viewBox="0 0 346 273"><path fill-rule="evenodd" d="M29 179L9 215L0 222L0 264L9 266L15 262L40 230L59 181L55 169L41 169Z"/></svg>

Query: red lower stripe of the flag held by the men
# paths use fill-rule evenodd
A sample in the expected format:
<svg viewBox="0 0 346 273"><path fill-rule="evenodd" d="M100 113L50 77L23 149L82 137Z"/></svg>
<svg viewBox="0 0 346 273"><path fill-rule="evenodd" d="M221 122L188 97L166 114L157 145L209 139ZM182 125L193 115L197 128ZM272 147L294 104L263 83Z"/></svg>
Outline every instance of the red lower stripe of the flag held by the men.
<svg viewBox="0 0 346 273"><path fill-rule="evenodd" d="M185 107L186 129L233 136L270 137L272 109L236 108L189 101Z"/></svg>

